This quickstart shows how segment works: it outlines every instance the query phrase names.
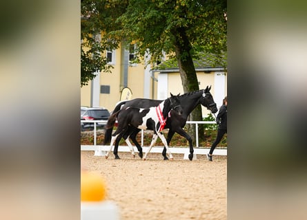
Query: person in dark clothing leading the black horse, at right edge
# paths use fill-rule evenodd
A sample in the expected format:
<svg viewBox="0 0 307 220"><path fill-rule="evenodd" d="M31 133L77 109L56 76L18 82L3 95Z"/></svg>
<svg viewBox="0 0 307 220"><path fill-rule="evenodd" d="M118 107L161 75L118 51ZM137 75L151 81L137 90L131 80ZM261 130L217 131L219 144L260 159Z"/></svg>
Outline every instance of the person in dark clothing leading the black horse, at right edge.
<svg viewBox="0 0 307 220"><path fill-rule="evenodd" d="M219 144L219 142L221 142L224 134L227 133L227 96L224 98L223 104L221 105L219 113L217 114L217 124L219 125L217 129L217 138L215 139L215 142L213 142L210 151L207 154L207 158L210 161L212 161L212 153L215 150L215 147L217 144Z"/></svg>

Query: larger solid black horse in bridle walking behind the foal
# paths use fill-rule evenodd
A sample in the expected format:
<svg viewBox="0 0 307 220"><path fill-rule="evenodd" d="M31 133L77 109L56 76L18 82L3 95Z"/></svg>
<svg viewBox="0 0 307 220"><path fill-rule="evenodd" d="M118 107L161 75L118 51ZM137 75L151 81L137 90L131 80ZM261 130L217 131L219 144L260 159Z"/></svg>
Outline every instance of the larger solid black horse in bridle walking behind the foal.
<svg viewBox="0 0 307 220"><path fill-rule="evenodd" d="M210 89L211 87L207 86L206 89L201 89L199 91L192 91L187 94L183 94L179 96L181 107L183 108L183 113L179 115L180 118L179 116L173 115L172 117L168 118L168 120L166 120L165 128L169 129L168 137L167 137L167 144L170 144L170 140L172 139L172 136L175 133L178 133L179 135L186 137L190 145L190 155L188 156L190 160L192 160L193 153L194 153L194 149L192 146L192 138L190 137L190 135L188 135L188 133L186 133L186 131L184 131L183 128L186 125L186 120L188 119L188 115L190 115L190 113L197 107L198 104L202 104L204 107L212 111L212 113L217 112L217 104L215 103L212 95L210 94ZM150 100L150 99L144 99L144 98L136 98L134 100L120 102L119 104L117 104L113 112L116 112L119 109L125 109L130 106L153 107L153 106L157 106L161 102L162 100ZM143 157L142 148L136 139L137 133L139 133L139 131L140 130L135 127L130 127L129 131L126 131L126 133L122 133L121 136L117 137L117 140L115 142L114 153L117 153L117 148L118 148L117 142L119 142L121 137L123 137L126 140L128 146L130 146L130 149L131 149L132 145L129 142L129 137L130 137L130 139L135 144L135 146L137 146L137 149L139 151L139 156L142 158ZM111 134L112 134L112 127L110 127L109 129L106 129L103 145L106 145L108 142L110 142ZM132 153L134 153L133 148L132 148ZM164 156L164 159L168 159L168 157L166 156L166 148L164 148L162 155Z"/></svg>

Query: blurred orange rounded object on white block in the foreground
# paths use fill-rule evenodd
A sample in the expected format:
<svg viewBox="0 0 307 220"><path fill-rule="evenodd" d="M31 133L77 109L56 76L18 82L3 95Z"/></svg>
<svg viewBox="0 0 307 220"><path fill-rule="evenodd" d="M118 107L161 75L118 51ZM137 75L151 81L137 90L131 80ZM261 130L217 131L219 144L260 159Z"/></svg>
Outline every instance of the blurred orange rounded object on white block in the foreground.
<svg viewBox="0 0 307 220"><path fill-rule="evenodd" d="M106 199L106 184L101 176L81 171L81 201L102 201Z"/></svg>

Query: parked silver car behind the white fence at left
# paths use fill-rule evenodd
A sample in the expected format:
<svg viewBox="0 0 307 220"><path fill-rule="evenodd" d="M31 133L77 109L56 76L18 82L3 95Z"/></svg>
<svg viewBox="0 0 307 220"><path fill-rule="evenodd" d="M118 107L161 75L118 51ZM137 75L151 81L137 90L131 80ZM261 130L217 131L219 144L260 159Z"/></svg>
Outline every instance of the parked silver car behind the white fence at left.
<svg viewBox="0 0 307 220"><path fill-rule="evenodd" d="M97 129L103 129L106 121L110 117L108 109L101 107L81 107L81 131L91 131L94 129L94 123L82 122L83 120L105 120L105 122L97 122Z"/></svg>

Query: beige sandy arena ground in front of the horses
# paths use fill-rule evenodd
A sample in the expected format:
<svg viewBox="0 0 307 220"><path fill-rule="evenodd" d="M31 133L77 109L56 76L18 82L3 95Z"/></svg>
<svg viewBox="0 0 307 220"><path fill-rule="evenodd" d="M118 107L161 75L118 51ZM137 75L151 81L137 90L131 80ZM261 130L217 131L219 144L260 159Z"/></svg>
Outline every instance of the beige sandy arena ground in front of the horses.
<svg viewBox="0 0 307 220"><path fill-rule="evenodd" d="M164 161L149 153L143 161L119 152L121 159L94 156L81 151L88 170L106 180L108 200L119 206L121 220L142 219L227 219L227 157L206 155L197 159Z"/></svg>

